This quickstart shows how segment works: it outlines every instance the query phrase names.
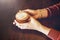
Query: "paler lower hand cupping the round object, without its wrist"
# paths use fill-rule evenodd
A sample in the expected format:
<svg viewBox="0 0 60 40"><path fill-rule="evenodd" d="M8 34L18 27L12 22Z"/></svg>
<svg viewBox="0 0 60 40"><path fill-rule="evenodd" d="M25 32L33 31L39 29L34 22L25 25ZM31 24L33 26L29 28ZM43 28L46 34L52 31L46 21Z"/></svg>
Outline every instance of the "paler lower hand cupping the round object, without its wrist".
<svg viewBox="0 0 60 40"><path fill-rule="evenodd" d="M14 20L13 24L20 29L32 29L32 30L37 30L40 26L42 26L42 24L35 20L33 17L30 17L30 21L27 23L18 23L16 20Z"/></svg>

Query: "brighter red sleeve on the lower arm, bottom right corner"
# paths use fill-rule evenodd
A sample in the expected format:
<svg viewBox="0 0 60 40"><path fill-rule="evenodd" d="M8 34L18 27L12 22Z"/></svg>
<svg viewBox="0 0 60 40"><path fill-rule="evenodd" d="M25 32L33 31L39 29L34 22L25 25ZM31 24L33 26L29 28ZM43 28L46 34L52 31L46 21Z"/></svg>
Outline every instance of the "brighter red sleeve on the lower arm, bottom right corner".
<svg viewBox="0 0 60 40"><path fill-rule="evenodd" d="M60 31L51 29L48 37L51 38L52 40L60 40Z"/></svg>

